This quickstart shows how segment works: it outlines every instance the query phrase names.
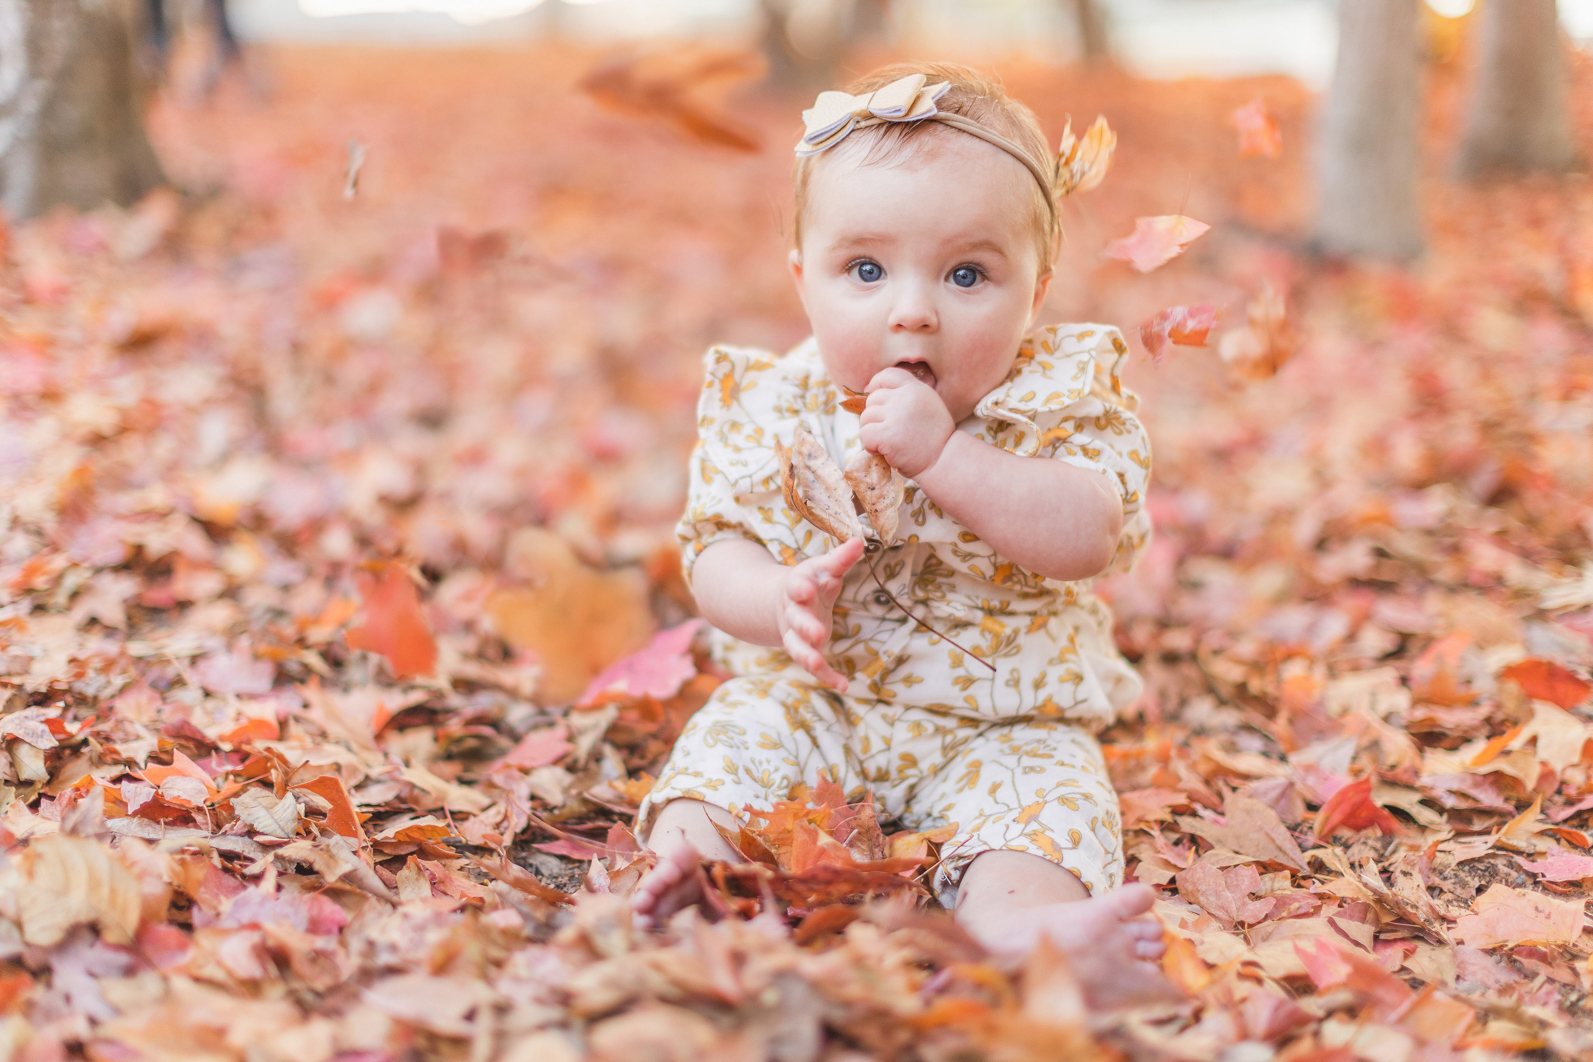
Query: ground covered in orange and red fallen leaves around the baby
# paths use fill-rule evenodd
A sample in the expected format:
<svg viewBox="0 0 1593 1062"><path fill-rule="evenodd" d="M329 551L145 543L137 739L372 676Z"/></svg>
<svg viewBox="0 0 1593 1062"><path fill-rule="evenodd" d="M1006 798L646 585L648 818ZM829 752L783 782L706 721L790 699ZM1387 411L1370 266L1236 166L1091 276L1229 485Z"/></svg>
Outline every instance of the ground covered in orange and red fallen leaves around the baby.
<svg viewBox="0 0 1593 1062"><path fill-rule="evenodd" d="M1435 177L1421 263L1329 264L1297 86L1010 72L1120 135L1047 315L1220 314L1136 347L1158 538L1106 588L1190 998L1091 1019L859 795L755 818L704 914L624 914L718 681L671 535L698 358L803 336L804 100L715 118L680 83L746 62L701 54L256 61L264 99L158 103L185 196L8 231L0 1057L1593 1056L1585 178ZM1102 260L1176 213L1184 256Z"/></svg>

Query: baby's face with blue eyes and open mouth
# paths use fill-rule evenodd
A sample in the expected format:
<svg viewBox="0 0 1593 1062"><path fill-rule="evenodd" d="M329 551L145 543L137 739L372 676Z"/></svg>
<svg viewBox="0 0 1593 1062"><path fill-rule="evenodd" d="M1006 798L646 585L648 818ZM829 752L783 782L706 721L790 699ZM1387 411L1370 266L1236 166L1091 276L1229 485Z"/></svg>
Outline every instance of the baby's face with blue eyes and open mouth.
<svg viewBox="0 0 1593 1062"><path fill-rule="evenodd" d="M903 366L962 420L1012 369L1050 283L1034 177L964 134L871 164L849 146L814 170L790 260L819 353L859 392Z"/></svg>

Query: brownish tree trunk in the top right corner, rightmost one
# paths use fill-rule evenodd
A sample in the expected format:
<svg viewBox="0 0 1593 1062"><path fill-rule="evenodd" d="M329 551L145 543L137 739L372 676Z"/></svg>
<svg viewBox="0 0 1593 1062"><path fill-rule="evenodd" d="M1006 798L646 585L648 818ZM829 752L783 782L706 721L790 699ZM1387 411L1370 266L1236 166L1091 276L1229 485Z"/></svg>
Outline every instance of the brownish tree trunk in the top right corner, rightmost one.
<svg viewBox="0 0 1593 1062"><path fill-rule="evenodd" d="M1555 0L1486 0L1456 169L1464 177L1575 162Z"/></svg>

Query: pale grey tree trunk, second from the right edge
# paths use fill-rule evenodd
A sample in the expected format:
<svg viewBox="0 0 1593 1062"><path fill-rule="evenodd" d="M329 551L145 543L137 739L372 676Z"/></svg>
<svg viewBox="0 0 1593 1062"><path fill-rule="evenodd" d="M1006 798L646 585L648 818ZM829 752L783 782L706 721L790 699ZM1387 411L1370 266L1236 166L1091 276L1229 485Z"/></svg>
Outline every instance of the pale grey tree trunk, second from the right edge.
<svg viewBox="0 0 1593 1062"><path fill-rule="evenodd" d="M1421 253L1418 3L1340 0L1338 61L1319 143L1316 244L1325 253Z"/></svg>

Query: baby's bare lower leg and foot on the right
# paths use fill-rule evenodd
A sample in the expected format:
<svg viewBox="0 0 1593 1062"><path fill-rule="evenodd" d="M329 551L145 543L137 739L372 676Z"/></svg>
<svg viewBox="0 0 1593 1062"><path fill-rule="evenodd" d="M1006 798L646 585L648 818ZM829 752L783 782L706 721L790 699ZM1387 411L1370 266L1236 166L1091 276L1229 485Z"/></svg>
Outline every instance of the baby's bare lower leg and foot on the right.
<svg viewBox="0 0 1593 1062"><path fill-rule="evenodd" d="M1149 885L1090 896L1061 866L1026 852L984 852L962 874L957 922L997 959L1021 960L1042 938L1056 944L1098 1008L1176 1000L1161 976L1161 927L1144 916Z"/></svg>

